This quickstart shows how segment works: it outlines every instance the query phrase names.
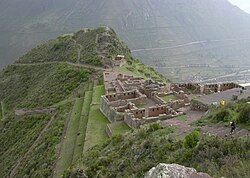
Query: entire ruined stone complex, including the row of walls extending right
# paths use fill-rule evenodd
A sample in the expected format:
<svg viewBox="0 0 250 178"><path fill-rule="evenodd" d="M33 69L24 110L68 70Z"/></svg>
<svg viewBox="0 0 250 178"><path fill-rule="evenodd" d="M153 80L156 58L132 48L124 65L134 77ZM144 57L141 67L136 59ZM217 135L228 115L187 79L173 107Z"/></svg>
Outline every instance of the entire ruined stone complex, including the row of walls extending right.
<svg viewBox="0 0 250 178"><path fill-rule="evenodd" d="M121 56L117 60L122 59ZM101 97L101 112L111 123L123 121L132 128L183 115L190 106L196 110L191 96L209 97L241 87L234 83L173 83L169 87L112 69L105 70L103 76L106 94ZM198 108L206 110L200 105Z"/></svg>

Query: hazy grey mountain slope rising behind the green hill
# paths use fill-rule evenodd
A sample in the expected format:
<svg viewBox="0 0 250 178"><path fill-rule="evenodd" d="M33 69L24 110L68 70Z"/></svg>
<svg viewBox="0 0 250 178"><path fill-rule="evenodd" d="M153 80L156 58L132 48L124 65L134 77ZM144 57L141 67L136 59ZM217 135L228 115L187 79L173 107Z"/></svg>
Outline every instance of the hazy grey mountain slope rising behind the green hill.
<svg viewBox="0 0 250 178"><path fill-rule="evenodd" d="M204 79L250 65L250 15L227 0L13 0L0 5L1 65L41 41L102 24L113 27L144 63L178 76L174 80Z"/></svg>

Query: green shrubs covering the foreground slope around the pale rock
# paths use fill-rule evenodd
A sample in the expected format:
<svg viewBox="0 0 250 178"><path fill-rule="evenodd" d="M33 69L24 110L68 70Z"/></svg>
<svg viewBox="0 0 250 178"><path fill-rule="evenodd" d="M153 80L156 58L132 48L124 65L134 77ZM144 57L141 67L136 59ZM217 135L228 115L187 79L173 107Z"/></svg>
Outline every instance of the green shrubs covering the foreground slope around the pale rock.
<svg viewBox="0 0 250 178"><path fill-rule="evenodd" d="M143 177L159 163L194 167L214 177L249 177L249 139L221 139L193 132L176 140L170 128L157 124L118 135L85 154L80 167L66 177ZM185 146L186 144L188 146ZM79 168L79 166L77 166Z"/></svg>

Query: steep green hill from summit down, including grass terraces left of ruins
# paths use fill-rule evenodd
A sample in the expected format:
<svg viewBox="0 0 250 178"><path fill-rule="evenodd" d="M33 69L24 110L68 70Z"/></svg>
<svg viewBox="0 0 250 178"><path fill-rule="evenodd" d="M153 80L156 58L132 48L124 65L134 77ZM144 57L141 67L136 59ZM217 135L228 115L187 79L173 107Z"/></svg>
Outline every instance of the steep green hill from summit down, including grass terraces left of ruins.
<svg viewBox="0 0 250 178"><path fill-rule="evenodd" d="M117 54L130 72L163 79L106 27L50 40L0 71L0 177L60 177L108 139L98 104Z"/></svg>

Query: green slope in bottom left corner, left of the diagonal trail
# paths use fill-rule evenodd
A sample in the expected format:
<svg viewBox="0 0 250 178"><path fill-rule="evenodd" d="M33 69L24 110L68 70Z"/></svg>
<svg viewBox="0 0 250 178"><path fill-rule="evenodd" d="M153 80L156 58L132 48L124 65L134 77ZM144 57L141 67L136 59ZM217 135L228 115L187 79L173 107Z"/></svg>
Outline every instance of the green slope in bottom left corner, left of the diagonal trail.
<svg viewBox="0 0 250 178"><path fill-rule="evenodd" d="M12 166L24 156L49 119L49 116L31 116L9 122L1 129L0 177L10 173Z"/></svg>

